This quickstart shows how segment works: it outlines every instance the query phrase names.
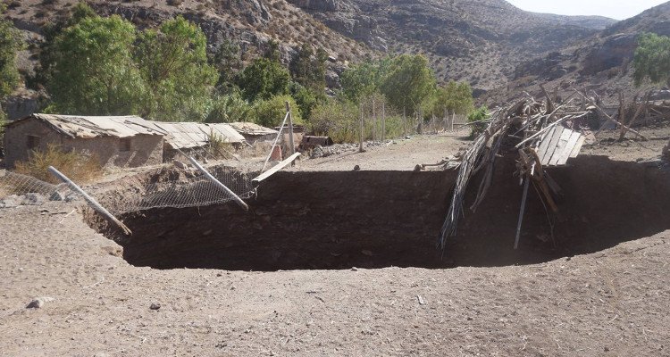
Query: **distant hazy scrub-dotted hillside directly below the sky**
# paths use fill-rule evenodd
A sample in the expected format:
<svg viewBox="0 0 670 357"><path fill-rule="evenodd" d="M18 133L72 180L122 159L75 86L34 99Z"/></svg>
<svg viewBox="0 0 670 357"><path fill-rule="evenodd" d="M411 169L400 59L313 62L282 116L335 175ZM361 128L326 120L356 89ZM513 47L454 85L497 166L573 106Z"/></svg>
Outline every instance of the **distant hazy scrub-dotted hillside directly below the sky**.
<svg viewBox="0 0 670 357"><path fill-rule="evenodd" d="M507 83L528 58L570 46L615 21L524 12L504 0L288 0L380 51L424 53L440 79L480 89Z"/></svg>

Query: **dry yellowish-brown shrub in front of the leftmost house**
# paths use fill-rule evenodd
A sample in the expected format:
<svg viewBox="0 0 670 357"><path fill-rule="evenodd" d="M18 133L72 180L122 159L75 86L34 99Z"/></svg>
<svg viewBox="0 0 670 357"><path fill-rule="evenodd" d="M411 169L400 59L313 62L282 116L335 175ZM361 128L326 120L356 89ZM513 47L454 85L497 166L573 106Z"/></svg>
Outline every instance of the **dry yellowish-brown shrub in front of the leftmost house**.
<svg viewBox="0 0 670 357"><path fill-rule="evenodd" d="M49 172L49 166L54 166L78 184L99 178L103 171L95 154L65 152L60 146L49 144L46 151L32 151L27 162L16 162L16 172L54 184L61 183Z"/></svg>

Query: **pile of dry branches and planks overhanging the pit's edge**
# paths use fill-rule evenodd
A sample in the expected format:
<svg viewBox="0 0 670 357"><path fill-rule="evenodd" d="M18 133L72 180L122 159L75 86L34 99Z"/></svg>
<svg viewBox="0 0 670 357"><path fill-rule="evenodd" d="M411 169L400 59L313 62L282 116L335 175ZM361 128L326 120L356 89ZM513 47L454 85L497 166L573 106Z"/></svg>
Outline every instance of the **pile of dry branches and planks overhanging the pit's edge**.
<svg viewBox="0 0 670 357"><path fill-rule="evenodd" d="M487 129L460 156L454 193L438 242L443 251L448 237L456 236L458 220L465 213L465 191L471 180L482 172L477 195L469 207L474 212L482 204L492 184L496 160L503 154L518 154L516 173L524 182L519 229L529 183L538 190L545 207L557 211L553 196L557 195L560 188L543 168L565 164L569 157L579 153L583 143L582 134L566 127L572 127L574 122L598 109L597 105L590 104L588 98L584 98L581 103L574 102L570 100L558 104L549 95L545 101L537 101L531 95L526 95L490 114Z"/></svg>

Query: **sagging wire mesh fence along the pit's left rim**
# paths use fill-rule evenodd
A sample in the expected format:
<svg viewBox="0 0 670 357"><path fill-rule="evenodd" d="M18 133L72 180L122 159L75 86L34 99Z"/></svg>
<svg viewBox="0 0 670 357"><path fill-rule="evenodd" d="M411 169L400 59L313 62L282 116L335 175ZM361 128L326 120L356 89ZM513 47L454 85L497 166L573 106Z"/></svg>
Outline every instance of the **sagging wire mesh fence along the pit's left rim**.
<svg viewBox="0 0 670 357"><path fill-rule="evenodd" d="M257 176L262 164L247 164L244 170L220 164L205 170L240 198L247 199L255 195L251 180ZM81 187L114 215L154 208L204 207L234 199L202 172L186 165L181 168L165 166L107 184ZM0 170L0 208L40 205L49 201L71 202L80 198L64 183L54 185L28 175Z"/></svg>

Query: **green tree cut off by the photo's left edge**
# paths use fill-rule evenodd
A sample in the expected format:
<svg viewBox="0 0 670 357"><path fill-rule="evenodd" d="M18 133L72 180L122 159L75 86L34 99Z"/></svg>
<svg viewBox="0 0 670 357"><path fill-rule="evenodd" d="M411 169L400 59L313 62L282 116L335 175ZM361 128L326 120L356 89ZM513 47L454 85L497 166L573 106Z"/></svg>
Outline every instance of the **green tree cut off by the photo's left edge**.
<svg viewBox="0 0 670 357"><path fill-rule="evenodd" d="M0 16L3 15L4 8L4 4L0 3ZM21 39L13 23L0 17L0 99L12 93L19 84L16 54L21 47Z"/></svg>

